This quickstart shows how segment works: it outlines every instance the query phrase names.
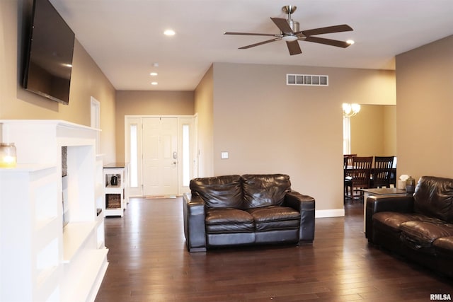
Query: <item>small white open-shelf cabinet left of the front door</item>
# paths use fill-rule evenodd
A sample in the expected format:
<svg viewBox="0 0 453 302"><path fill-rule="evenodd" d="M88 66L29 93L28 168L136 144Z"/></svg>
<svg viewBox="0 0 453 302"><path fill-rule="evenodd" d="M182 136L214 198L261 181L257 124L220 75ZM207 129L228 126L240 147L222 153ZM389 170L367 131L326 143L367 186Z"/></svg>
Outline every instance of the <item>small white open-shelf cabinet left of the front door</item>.
<svg viewBox="0 0 453 302"><path fill-rule="evenodd" d="M127 209L127 165L110 163L103 168L103 212L104 216L123 216Z"/></svg>

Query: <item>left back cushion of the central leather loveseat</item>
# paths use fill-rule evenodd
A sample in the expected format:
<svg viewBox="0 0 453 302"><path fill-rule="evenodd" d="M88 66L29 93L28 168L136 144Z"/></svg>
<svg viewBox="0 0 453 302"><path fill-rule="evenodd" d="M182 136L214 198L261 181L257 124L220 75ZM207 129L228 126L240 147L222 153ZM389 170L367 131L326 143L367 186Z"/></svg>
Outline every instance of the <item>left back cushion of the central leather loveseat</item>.
<svg viewBox="0 0 453 302"><path fill-rule="evenodd" d="M206 207L237 208L243 204L241 176L224 175L190 180L190 190L205 201Z"/></svg>

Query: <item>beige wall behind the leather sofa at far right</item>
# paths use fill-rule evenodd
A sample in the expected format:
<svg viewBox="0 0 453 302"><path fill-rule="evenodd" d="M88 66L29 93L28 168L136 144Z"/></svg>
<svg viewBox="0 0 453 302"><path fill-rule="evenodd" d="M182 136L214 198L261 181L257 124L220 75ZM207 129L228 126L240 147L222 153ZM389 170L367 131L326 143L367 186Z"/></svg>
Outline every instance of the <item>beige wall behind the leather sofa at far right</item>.
<svg viewBox="0 0 453 302"><path fill-rule="evenodd" d="M398 175L453 178L453 35L396 57Z"/></svg>

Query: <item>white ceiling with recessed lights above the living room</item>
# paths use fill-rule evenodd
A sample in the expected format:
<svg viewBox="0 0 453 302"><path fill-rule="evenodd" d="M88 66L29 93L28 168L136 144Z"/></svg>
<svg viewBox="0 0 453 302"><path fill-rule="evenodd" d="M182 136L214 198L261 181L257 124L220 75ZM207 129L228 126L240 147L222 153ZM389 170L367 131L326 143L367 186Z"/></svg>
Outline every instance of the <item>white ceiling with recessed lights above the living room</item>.
<svg viewBox="0 0 453 302"><path fill-rule="evenodd" d="M452 0L51 2L117 90L193 91L213 62L394 69L396 54L453 34ZM285 18L285 5L297 6L292 18L300 30L350 25L352 32L321 37L352 39L355 45L302 41L303 53L290 56L283 41L238 50L269 37L223 35L280 33L270 17ZM168 28L176 35L163 35Z"/></svg>

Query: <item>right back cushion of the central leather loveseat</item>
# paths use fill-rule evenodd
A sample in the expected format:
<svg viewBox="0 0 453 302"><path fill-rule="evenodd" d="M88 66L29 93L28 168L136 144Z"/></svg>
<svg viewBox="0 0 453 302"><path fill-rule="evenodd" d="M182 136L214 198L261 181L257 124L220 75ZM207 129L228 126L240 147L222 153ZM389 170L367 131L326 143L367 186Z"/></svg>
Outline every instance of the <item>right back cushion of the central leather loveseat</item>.
<svg viewBox="0 0 453 302"><path fill-rule="evenodd" d="M256 207L280 206L285 194L291 191L289 176L273 175L242 175L243 197L245 209Z"/></svg>

